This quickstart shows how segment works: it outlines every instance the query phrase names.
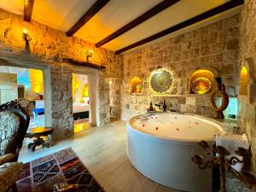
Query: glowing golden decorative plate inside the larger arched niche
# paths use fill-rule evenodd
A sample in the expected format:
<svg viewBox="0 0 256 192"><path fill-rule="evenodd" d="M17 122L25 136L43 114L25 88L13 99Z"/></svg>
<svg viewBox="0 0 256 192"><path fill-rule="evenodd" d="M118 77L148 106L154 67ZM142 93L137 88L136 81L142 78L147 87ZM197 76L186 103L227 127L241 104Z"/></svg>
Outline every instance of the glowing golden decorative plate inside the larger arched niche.
<svg viewBox="0 0 256 192"><path fill-rule="evenodd" d="M212 81L207 78L196 78L191 83L191 90L196 94L205 94L212 90Z"/></svg>

